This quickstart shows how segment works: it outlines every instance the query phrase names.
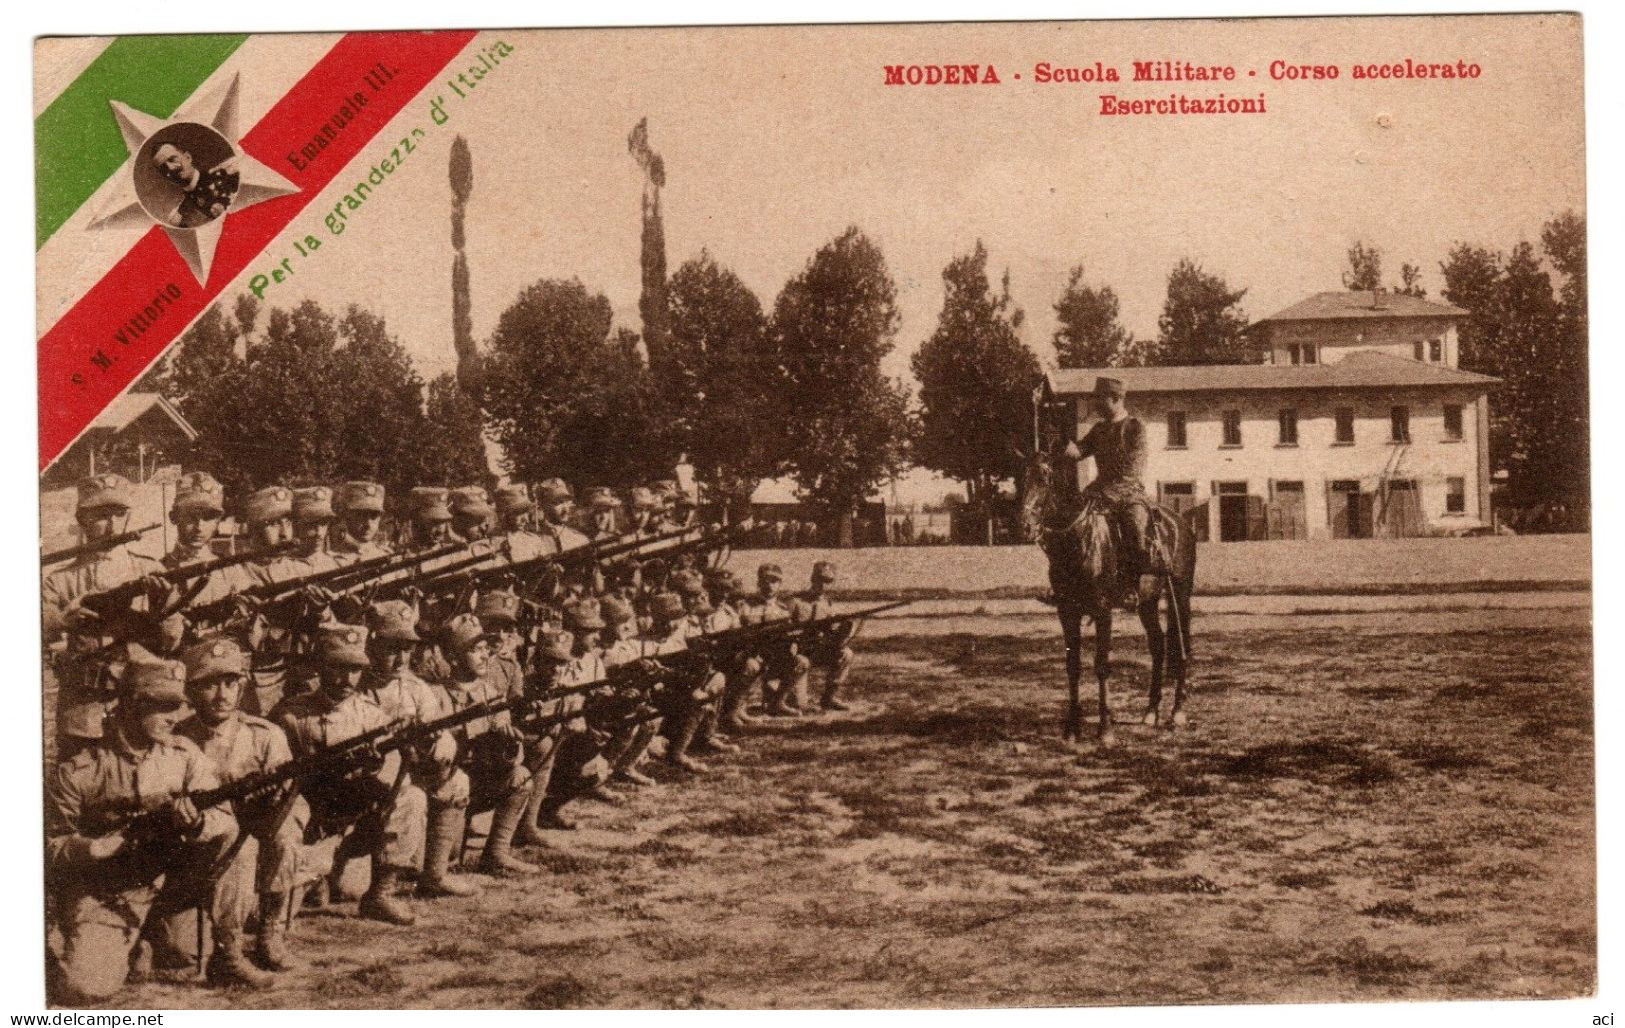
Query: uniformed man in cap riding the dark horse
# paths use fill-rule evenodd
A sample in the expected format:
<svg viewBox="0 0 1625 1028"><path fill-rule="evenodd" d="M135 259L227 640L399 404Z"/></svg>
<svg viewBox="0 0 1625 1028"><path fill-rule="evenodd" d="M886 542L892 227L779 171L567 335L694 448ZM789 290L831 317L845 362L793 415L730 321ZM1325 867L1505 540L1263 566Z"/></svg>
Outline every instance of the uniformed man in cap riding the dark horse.
<svg viewBox="0 0 1625 1028"><path fill-rule="evenodd" d="M1152 572L1146 539L1150 503L1146 499L1146 425L1128 412L1128 391L1116 378L1095 378L1092 396L1098 421L1082 438L1068 440L1061 455L1069 461L1095 458L1095 479L1082 500L1103 503L1123 541L1134 575ZM1076 482L1076 463L1068 481ZM1128 577L1126 577L1128 578Z"/></svg>

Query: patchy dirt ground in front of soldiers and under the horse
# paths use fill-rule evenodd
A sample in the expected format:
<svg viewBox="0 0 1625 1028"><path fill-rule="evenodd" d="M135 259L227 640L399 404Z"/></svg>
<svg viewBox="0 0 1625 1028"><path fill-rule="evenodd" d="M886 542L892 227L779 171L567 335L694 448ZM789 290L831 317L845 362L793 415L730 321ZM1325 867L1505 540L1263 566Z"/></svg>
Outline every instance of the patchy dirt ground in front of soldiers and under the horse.
<svg viewBox="0 0 1625 1028"><path fill-rule="evenodd" d="M1596 981L1583 607L1199 627L1191 726L1058 739L1042 619L860 640L850 715L528 851L296 924L266 992L120 1007L964 1007L1558 997ZM1412 628L1406 630L1406 624ZM978 625L978 632L982 627ZM1144 705L1118 648L1120 719Z"/></svg>

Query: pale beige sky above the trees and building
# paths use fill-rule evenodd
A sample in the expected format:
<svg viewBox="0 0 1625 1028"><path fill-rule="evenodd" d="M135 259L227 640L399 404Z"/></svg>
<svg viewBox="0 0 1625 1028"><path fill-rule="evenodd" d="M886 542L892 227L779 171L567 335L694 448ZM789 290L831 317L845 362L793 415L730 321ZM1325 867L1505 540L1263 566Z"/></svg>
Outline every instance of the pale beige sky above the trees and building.
<svg viewBox="0 0 1625 1028"><path fill-rule="evenodd" d="M266 266L250 266L226 296L314 232L323 248L266 302L361 304L385 317L424 377L450 370L447 153L463 135L474 164L476 339L541 278L580 278L639 328L642 179L626 138L642 117L668 175L670 268L708 250L770 309L811 255L855 224L897 283L902 320L886 370L904 378L934 328L942 266L978 239L993 274L1009 271L1027 312L1024 341L1048 362L1053 304L1077 263L1086 281L1118 292L1126 328L1152 336L1167 273L1185 257L1246 287L1251 318L1337 289L1355 240L1384 252L1389 279L1401 261L1419 263L1436 297L1453 244L1510 248L1537 240L1552 214L1584 208L1571 16L502 31L476 37L453 65L497 39L514 52L474 91L431 89L408 104L270 247ZM254 37L239 62L244 123L330 44ZM1466 60L1482 75L1350 76L1357 62L1407 57ZM1129 81L1131 62L1160 58L1233 65L1238 78ZM1274 60L1336 63L1341 78L1272 81ZM1100 62L1123 81L1040 84L1038 62ZM991 63L1003 83L886 86L887 63ZM1097 114L1102 93L1220 91L1264 93L1268 114ZM444 127L427 119L436 96L452 115ZM343 235L327 234L320 211L411 127L427 138ZM124 240L107 235L94 244L120 252ZM75 235L75 253L41 255L42 312L50 283L67 297L73 278L96 271L86 242Z"/></svg>

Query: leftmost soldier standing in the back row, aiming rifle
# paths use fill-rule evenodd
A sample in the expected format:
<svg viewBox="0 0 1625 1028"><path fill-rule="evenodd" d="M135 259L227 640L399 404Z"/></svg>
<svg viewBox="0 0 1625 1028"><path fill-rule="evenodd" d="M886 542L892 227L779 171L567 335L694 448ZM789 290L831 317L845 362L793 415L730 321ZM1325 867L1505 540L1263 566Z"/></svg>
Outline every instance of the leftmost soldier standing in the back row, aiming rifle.
<svg viewBox="0 0 1625 1028"><path fill-rule="evenodd" d="M98 474L81 481L73 516L86 542L124 533L130 518L130 482L117 474ZM65 637L65 648L54 661L58 757L68 757L86 741L101 737L102 716L114 700L110 676L122 656L117 646L112 650L107 646L115 641L115 632L119 635L124 632L119 632L117 625L102 624L102 619L80 601L89 593L101 593L162 570L162 564L132 552L125 544L83 554L44 577L41 607L46 641ZM162 586L154 585L154 590L161 593ZM146 606L145 598L138 599L136 606Z"/></svg>

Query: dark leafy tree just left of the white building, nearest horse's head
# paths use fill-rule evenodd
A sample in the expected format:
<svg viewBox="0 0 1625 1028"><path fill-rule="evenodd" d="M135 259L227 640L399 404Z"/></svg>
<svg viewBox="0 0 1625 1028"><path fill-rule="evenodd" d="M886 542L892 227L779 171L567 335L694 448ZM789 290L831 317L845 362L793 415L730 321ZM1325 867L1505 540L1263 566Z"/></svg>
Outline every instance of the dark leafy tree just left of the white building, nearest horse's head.
<svg viewBox="0 0 1625 1028"><path fill-rule="evenodd" d="M970 503L991 528L999 482L1019 477L1032 453L1038 359L1020 341L1022 310L1011 300L1009 273L999 292L988 286L980 239L972 253L947 263L942 286L936 331L912 361L920 382L913 456L965 482Z"/></svg>

